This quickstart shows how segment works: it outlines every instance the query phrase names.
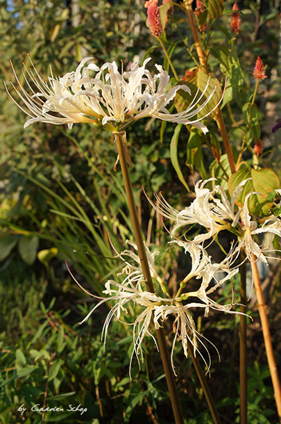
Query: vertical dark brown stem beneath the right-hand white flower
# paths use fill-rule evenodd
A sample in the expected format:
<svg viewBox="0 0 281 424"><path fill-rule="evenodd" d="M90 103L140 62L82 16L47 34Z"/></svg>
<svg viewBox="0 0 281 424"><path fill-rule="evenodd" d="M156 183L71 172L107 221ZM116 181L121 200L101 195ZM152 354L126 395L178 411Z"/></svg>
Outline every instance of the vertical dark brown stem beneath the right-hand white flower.
<svg viewBox="0 0 281 424"><path fill-rule="evenodd" d="M246 314L246 255L241 251L240 266L240 312ZM240 315L240 424L247 424L247 325L246 315Z"/></svg>

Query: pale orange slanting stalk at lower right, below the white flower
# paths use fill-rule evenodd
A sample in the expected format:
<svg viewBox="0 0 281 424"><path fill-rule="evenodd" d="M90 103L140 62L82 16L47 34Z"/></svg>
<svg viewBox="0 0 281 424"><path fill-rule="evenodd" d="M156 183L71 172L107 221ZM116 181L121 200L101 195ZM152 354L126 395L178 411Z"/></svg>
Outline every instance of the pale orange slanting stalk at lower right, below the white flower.
<svg viewBox="0 0 281 424"><path fill-rule="evenodd" d="M273 346L271 341L271 332L269 329L269 319L266 313L266 304L264 302L264 295L262 293L262 286L260 284L259 272L257 270L257 258L252 254L252 270L253 280L255 286L255 294L257 295L257 309L259 311L259 318L262 323L262 334L264 336L264 345L266 348L266 357L269 363L269 370L271 373L271 380L273 384L274 398L277 406L279 421L281 423L281 387L278 377L278 370L274 359Z"/></svg>

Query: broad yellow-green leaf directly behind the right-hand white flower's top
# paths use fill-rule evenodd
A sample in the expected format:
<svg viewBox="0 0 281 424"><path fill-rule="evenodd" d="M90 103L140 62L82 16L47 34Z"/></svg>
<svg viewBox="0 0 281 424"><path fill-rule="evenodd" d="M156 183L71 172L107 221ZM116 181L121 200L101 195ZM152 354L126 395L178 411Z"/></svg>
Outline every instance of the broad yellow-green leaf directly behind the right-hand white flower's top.
<svg viewBox="0 0 281 424"><path fill-rule="evenodd" d="M245 197L248 193L256 192L248 199L248 209L253 215L267 216L271 214L272 203L267 202L266 198L269 193L276 188L280 188L278 176L272 170L264 168L262 170L253 170L248 167L241 168L239 171L232 174L228 181L228 189L230 195L233 194L235 188L244 181L250 178L243 187L243 190L237 197L236 203L238 206L243 206Z"/></svg>

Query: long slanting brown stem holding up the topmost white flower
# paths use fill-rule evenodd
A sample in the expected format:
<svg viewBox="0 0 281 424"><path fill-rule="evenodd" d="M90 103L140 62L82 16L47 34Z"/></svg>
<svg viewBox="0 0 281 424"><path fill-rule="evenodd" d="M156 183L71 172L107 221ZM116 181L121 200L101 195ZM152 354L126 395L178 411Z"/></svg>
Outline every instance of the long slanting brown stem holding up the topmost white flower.
<svg viewBox="0 0 281 424"><path fill-rule="evenodd" d="M114 133L114 136L115 136L115 141L117 144L119 160L121 165L121 172L124 179L124 186L126 190L128 207L130 211L130 218L133 224L133 230L135 233L135 240L137 243L137 251L138 251L139 260L142 266L142 272L144 274L144 279L146 281L147 290L150 291L151 293L155 293L154 287L153 287L153 281L151 278L151 272L149 269L148 260L146 256L144 240L142 238L142 230L139 225L139 220L137 218L137 208L135 206L133 186L130 180L130 174L129 174L128 165L127 165L126 156L125 156L124 141L126 140L126 133L124 131L116 132ZM183 424L182 411L180 409L180 401L178 399L176 382L173 376L173 370L171 368L171 361L169 360L169 353L167 350L167 343L164 336L164 330L162 328L157 329L156 334L157 334L157 341L158 341L159 350L160 350L160 354L162 358L162 363L164 366L164 373L167 380L167 386L168 386L168 390L169 390L169 394L171 398L171 405L173 408L173 416L175 418L175 423Z"/></svg>

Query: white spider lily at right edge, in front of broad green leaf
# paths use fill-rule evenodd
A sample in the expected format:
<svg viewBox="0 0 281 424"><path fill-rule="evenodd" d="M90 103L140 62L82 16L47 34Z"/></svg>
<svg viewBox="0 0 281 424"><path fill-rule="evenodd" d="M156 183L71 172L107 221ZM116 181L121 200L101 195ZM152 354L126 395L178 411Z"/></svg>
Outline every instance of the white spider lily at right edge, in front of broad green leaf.
<svg viewBox="0 0 281 424"><path fill-rule="evenodd" d="M205 240L209 240L217 236L219 231L228 229L229 231L237 234L237 247L232 249L232 259L237 257L241 249L244 249L249 261L252 261L252 254L264 263L267 263L266 256L264 255L264 247L259 246L254 240L256 234L272 233L281 237L281 220L275 215L271 215L258 227L258 223L252 220L248 211L248 199L251 195L259 195L259 193L251 192L245 197L244 206L237 210L235 209L235 201L237 196L243 190L244 185L249 179L241 181L232 195L231 200L228 199L227 194L223 187L216 185L212 190L205 188L209 181L215 180L214 178L205 181L198 181L195 186L195 199L181 211L177 211L170 206L167 201L162 197L155 195L157 198L157 206L151 202L152 206L164 217L169 218L176 222L171 230L171 236L175 236L181 227L187 225L198 224L205 228L207 232L198 234L193 240L174 240L174 243L184 246L189 243L201 244ZM275 190L277 194L281 190ZM159 206L158 206L159 205Z"/></svg>

